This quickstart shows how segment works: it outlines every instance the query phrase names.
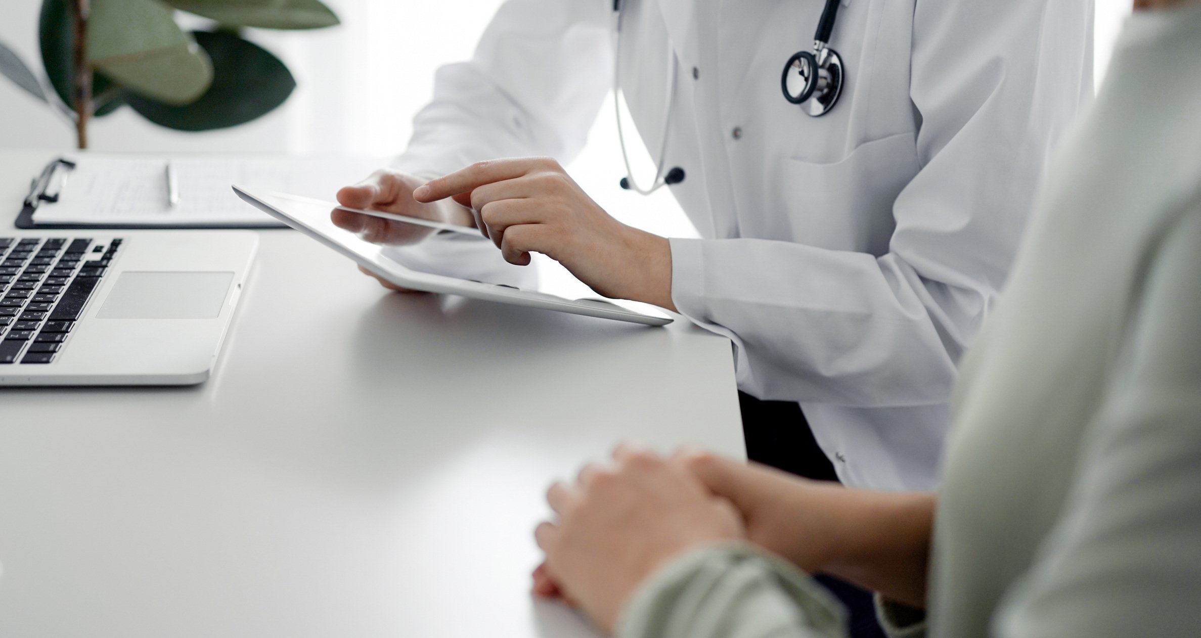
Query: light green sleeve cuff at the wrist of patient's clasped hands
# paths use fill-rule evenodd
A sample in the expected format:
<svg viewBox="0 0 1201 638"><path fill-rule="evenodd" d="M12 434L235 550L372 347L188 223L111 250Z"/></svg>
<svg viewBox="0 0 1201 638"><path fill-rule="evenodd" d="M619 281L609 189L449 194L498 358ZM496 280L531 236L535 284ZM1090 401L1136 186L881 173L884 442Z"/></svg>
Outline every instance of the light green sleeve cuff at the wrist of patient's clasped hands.
<svg viewBox="0 0 1201 638"><path fill-rule="evenodd" d="M691 551L634 594L621 638L843 638L844 612L787 561L746 543Z"/></svg>

